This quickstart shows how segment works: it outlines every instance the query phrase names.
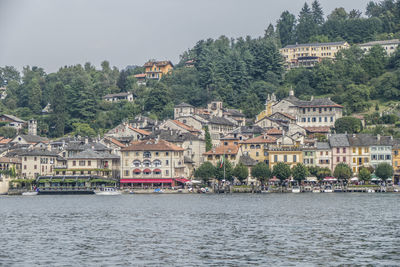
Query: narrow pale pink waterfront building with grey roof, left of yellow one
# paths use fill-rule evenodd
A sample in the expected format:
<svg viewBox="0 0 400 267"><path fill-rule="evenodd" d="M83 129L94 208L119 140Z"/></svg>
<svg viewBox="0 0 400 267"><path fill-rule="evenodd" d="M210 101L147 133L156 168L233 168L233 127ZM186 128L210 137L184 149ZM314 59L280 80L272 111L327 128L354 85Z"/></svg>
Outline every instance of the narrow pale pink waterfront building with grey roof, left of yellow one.
<svg viewBox="0 0 400 267"><path fill-rule="evenodd" d="M339 163L345 163L350 167L350 144L347 134L329 135L329 146L332 149L332 172Z"/></svg>

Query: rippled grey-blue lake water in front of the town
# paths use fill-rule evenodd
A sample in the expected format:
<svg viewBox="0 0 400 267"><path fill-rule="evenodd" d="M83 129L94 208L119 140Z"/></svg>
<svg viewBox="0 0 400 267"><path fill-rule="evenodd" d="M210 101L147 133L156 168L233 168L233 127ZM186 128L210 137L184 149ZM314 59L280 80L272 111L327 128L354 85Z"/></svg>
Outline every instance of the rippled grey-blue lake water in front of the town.
<svg viewBox="0 0 400 267"><path fill-rule="evenodd" d="M1 196L0 266L400 265L400 194Z"/></svg>

